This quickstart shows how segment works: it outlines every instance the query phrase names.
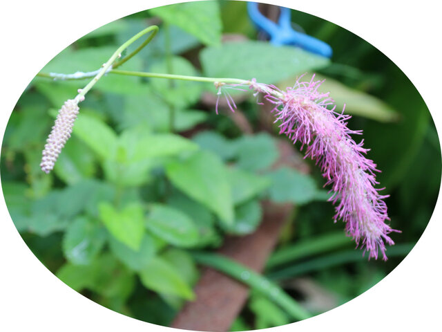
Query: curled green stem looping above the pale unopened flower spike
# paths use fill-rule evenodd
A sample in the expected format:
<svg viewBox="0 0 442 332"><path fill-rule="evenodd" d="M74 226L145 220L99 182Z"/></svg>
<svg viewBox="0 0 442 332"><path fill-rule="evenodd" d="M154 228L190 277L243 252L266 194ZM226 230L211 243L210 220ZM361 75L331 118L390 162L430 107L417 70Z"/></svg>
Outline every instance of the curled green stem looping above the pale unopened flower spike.
<svg viewBox="0 0 442 332"><path fill-rule="evenodd" d="M88 91L90 89L92 89L92 87L95 85L95 83L98 82L98 80L105 74L107 73L111 68L112 68L112 64L113 62L115 62L115 60L119 57L121 57L121 53L123 50L125 50L126 48L128 48L128 46L130 46L133 42L135 42L137 39L139 39L140 37L146 35L146 33L151 33L151 35L146 39L146 41L140 45L135 51L133 51L133 53L131 53L130 55L128 55L128 57L126 57L125 59L120 60L119 62L116 62L114 64L114 68L117 66L120 66L122 64L124 64L124 62L126 62L128 59L131 59L131 57L133 57L135 54L137 54L138 52L140 52L140 50L146 46L146 44L148 44L148 42L150 42L152 40L152 38L156 35L158 31L158 27L157 26L149 26L148 28L145 28L144 30L140 31L140 33L137 33L136 35L134 35L131 39L128 39L127 42L125 42L124 44L122 44L122 46L119 46L119 48L117 48L117 50L115 50L115 53L113 53L113 55L108 59L108 61L103 65L103 68L100 69L97 73L97 75L95 75L95 77L93 78L93 80L91 80L85 87L84 89L79 90L79 94L77 95L77 97L75 97L75 100L77 102L81 102L84 99L84 95L86 95L86 93L88 93Z"/></svg>

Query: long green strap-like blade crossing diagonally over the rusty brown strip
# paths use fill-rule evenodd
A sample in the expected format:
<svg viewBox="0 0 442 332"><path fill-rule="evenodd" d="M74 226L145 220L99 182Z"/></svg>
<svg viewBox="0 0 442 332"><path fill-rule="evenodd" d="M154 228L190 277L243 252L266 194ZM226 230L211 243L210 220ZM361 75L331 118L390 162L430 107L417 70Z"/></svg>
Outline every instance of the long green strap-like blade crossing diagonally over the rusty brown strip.
<svg viewBox="0 0 442 332"><path fill-rule="evenodd" d="M295 320L305 320L311 317L305 308L300 306L292 297L287 295L280 286L273 284L267 278L255 271L238 264L236 261L217 254L207 252L192 252L192 257L200 264L220 270L240 282L269 297L273 302L284 308Z"/></svg>

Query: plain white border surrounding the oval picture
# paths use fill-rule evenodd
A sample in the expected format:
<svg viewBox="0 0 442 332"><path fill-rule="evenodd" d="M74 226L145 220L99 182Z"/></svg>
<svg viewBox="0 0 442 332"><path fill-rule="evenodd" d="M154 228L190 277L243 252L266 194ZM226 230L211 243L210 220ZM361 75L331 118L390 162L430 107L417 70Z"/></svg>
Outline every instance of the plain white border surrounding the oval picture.
<svg viewBox="0 0 442 332"><path fill-rule="evenodd" d="M148 2L148 3L147 3ZM0 13L0 135L32 77L86 33L134 12L183 1L8 1ZM381 50L410 78L442 132L437 1L265 1L316 15ZM6 65L5 65L6 64ZM406 98L406 96L404 96ZM438 107L439 106L439 107ZM171 331L119 315L79 295L24 245L0 199L0 328L3 331ZM439 222L437 222L439 220ZM442 297L441 199L423 236L390 275L363 295L275 331L435 331Z"/></svg>

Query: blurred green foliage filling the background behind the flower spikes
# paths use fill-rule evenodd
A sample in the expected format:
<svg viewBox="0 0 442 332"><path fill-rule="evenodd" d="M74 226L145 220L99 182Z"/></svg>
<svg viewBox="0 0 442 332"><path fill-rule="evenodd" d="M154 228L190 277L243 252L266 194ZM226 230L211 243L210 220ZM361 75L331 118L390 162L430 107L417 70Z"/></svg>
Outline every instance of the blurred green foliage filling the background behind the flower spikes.
<svg viewBox="0 0 442 332"><path fill-rule="evenodd" d="M260 11L273 20L280 12ZM345 237L343 223L333 223L319 170L302 160L298 145L284 148L288 140L271 125L269 105L233 91L238 111L220 100L217 116L211 84L108 74L80 104L73 137L50 175L39 169L50 127L64 101L88 81L36 77L8 122L3 194L41 263L103 306L170 326L186 303L199 301L194 290L201 291L206 270L195 252L211 255L242 237L252 243L268 216L267 202L285 213L275 217L284 220L262 253L262 275L309 315L349 301L390 273L419 240L436 203L441 149L434 123L412 82L379 50L318 17L291 10L291 21L294 30L329 44L332 57L273 46L253 25L247 3L211 1L114 21L63 50L42 72L93 71L117 46L157 24L153 42L121 69L256 77L281 89L316 73L338 109L346 104L349 128L363 129L368 158L382 170L377 179L390 194L391 225L402 231L392 234L388 261L367 261ZM242 250L244 257L255 255ZM302 319L256 288L238 306L234 319L223 322L231 331Z"/></svg>

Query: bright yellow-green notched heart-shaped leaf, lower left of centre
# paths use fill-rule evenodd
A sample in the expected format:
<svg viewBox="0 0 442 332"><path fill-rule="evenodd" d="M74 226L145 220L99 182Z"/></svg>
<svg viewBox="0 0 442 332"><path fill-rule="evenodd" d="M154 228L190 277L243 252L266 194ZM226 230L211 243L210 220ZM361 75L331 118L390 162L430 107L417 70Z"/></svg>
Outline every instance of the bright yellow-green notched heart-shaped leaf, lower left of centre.
<svg viewBox="0 0 442 332"><path fill-rule="evenodd" d="M121 211L109 203L99 204L99 215L115 239L133 250L139 250L144 237L144 215L139 203L126 205Z"/></svg>

